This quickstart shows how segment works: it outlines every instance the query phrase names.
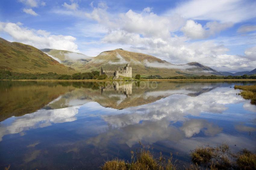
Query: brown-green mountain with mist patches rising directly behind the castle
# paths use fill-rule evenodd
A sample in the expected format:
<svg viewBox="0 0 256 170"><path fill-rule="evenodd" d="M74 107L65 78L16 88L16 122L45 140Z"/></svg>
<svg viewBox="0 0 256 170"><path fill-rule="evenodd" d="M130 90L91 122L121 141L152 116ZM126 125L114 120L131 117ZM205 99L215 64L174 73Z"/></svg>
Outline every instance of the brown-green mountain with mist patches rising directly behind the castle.
<svg viewBox="0 0 256 170"><path fill-rule="evenodd" d="M152 55L129 52L123 49L101 52L91 61L84 64L81 67L81 71L99 71L101 66L103 66L104 70L115 70L119 66L125 66L126 63L129 63L133 67L133 76L136 74L143 76L222 75L216 70L197 62L175 65Z"/></svg>

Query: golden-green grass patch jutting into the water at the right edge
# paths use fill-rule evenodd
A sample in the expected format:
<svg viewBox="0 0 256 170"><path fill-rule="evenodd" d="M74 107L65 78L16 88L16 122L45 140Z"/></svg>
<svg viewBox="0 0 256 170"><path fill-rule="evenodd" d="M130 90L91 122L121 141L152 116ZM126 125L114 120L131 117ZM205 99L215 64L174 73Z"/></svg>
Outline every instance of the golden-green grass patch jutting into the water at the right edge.
<svg viewBox="0 0 256 170"><path fill-rule="evenodd" d="M235 85L235 89L241 89L239 93L244 99L251 100L251 104L256 105L256 85Z"/></svg>

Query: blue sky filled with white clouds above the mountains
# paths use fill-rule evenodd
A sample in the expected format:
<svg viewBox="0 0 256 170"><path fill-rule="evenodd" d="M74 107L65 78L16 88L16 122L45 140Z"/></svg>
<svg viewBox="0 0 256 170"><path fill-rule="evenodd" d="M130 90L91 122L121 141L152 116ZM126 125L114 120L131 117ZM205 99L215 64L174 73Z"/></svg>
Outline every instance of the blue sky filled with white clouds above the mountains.
<svg viewBox="0 0 256 170"><path fill-rule="evenodd" d="M0 37L97 56L122 48L218 71L256 68L255 0L1 0Z"/></svg>

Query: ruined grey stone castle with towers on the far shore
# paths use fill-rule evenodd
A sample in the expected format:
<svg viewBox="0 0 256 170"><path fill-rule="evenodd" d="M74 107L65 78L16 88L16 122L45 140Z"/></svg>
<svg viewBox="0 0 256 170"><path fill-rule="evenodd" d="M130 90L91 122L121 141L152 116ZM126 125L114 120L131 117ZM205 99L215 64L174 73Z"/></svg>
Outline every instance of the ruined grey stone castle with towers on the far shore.
<svg viewBox="0 0 256 170"><path fill-rule="evenodd" d="M118 79L119 76L132 77L132 66L127 63L125 67L122 67L121 69L118 67L118 70L115 71L103 70L103 67L101 66L100 75L103 74L107 76L114 76L114 79Z"/></svg>

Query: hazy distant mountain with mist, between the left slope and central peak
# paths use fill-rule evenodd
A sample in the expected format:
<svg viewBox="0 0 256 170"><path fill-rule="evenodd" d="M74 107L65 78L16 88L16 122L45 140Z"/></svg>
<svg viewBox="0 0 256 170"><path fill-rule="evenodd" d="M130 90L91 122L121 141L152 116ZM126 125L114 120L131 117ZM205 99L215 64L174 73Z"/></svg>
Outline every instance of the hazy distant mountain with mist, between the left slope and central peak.
<svg viewBox="0 0 256 170"><path fill-rule="evenodd" d="M41 51L59 61L61 64L72 67L77 71L81 71L81 67L93 58L81 53L66 50L41 49Z"/></svg>

